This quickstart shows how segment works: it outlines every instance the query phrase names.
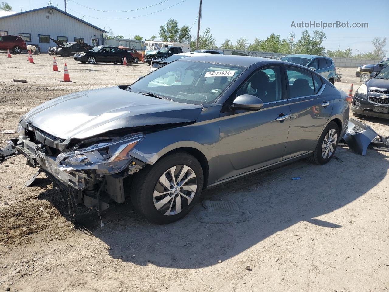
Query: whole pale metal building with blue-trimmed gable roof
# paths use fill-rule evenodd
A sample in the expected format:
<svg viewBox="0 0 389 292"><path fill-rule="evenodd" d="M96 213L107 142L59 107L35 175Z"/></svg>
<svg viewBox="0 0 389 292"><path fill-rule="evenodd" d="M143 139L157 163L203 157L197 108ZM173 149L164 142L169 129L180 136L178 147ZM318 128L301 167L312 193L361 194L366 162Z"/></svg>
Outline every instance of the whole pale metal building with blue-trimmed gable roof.
<svg viewBox="0 0 389 292"><path fill-rule="evenodd" d="M102 28L54 6L0 16L0 35L18 35L26 44L38 44L41 52L62 42L82 40L91 46L103 44Z"/></svg>

